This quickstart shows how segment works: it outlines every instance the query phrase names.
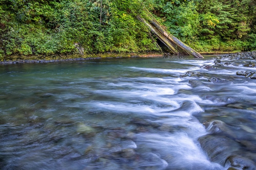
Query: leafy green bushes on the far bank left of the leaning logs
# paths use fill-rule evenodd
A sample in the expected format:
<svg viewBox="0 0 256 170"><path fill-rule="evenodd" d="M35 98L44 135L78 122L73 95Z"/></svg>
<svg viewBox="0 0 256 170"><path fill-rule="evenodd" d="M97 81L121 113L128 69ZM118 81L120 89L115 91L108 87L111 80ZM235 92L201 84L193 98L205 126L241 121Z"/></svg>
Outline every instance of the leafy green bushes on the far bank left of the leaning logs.
<svg viewBox="0 0 256 170"><path fill-rule="evenodd" d="M147 5L147 1L0 2L14 15L0 35L3 39L0 46L7 55L78 53L75 44L83 47L84 53L157 50L148 29L136 19L139 8L143 3Z"/></svg>

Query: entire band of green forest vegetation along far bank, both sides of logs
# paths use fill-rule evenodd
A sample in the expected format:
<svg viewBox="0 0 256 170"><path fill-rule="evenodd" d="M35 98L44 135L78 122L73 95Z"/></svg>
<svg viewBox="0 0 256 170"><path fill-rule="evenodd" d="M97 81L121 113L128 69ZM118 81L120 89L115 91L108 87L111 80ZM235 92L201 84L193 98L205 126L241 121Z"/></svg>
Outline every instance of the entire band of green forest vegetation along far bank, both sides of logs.
<svg viewBox="0 0 256 170"><path fill-rule="evenodd" d="M255 0L0 0L0 57L159 50L147 8L198 51L256 49ZM80 49L80 51L79 51Z"/></svg>

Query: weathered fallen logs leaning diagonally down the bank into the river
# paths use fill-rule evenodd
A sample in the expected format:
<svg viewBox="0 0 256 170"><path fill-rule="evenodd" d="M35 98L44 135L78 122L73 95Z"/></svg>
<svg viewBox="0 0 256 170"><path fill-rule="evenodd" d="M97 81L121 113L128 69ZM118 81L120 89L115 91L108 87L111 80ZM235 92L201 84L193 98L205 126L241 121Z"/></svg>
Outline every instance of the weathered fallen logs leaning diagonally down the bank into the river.
<svg viewBox="0 0 256 170"><path fill-rule="evenodd" d="M147 12L149 14L149 12ZM150 15L150 14L149 14ZM137 18L142 21L150 30L156 35L156 37L165 44L168 49L176 55L193 55L196 58L203 58L201 54L196 52L194 49L190 48L186 44L182 43L181 40L169 34L157 20L150 16L149 22L145 19L137 16Z"/></svg>

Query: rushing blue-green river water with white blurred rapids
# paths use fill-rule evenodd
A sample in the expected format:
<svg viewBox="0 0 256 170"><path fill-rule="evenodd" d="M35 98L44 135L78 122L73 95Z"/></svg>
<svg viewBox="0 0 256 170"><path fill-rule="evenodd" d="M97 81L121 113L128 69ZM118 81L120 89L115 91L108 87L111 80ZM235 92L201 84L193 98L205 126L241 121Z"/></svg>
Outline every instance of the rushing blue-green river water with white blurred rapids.
<svg viewBox="0 0 256 170"><path fill-rule="evenodd" d="M255 161L256 80L236 75L246 70L239 64L199 68L213 57L1 65L0 169L224 170L230 155ZM191 70L202 76L179 78Z"/></svg>

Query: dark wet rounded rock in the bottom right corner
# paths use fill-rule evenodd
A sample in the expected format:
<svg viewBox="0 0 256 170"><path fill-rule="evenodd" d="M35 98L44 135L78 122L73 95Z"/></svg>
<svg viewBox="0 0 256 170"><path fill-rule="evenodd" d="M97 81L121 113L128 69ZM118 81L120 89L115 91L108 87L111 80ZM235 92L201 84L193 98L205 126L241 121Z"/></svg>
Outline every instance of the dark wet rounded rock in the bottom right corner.
<svg viewBox="0 0 256 170"><path fill-rule="evenodd" d="M243 170L255 170L256 164L248 158L242 156L229 156L225 162L225 166L236 167Z"/></svg>

